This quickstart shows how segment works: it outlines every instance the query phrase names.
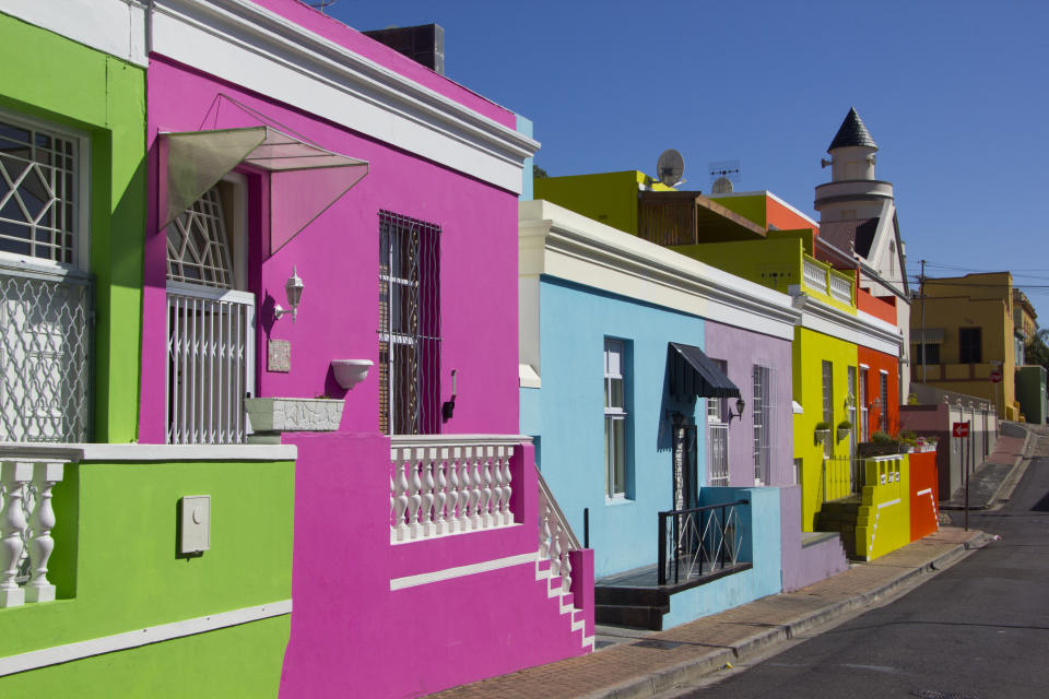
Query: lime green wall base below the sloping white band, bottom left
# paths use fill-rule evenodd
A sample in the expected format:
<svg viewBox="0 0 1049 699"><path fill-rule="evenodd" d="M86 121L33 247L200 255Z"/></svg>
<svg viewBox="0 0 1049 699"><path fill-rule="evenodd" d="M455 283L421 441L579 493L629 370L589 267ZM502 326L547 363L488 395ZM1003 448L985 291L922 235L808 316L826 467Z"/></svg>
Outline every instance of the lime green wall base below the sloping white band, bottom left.
<svg viewBox="0 0 1049 699"><path fill-rule="evenodd" d="M276 697L288 633L286 615L251 621L0 677L0 694L78 699Z"/></svg>

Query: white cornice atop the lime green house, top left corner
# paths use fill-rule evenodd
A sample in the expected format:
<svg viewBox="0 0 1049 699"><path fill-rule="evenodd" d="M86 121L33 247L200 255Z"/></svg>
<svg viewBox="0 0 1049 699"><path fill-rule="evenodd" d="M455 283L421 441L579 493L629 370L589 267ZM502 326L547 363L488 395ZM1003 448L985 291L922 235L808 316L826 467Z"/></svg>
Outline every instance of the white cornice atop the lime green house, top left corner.
<svg viewBox="0 0 1049 699"><path fill-rule="evenodd" d="M145 12L134 0L3 0L0 12L144 67ZM26 50L30 50L26 47Z"/></svg>

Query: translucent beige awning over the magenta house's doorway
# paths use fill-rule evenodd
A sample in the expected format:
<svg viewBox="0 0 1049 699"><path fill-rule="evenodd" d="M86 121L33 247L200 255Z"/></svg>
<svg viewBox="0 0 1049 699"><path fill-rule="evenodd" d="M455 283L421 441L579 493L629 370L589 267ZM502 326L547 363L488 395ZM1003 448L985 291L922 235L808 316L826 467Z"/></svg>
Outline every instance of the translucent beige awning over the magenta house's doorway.
<svg viewBox="0 0 1049 699"><path fill-rule="evenodd" d="M239 165L270 173L270 254L368 174L368 163L270 126L162 133L166 227Z"/></svg>

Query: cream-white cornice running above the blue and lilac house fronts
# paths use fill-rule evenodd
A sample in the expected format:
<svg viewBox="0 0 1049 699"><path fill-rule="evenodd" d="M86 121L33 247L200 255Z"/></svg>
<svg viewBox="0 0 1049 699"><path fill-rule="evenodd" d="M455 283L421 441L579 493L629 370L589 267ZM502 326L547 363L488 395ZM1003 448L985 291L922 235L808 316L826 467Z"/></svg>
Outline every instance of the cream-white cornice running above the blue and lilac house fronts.
<svg viewBox="0 0 1049 699"><path fill-rule="evenodd" d="M800 315L774 292L546 201L520 203L519 274L555 276L793 339Z"/></svg>

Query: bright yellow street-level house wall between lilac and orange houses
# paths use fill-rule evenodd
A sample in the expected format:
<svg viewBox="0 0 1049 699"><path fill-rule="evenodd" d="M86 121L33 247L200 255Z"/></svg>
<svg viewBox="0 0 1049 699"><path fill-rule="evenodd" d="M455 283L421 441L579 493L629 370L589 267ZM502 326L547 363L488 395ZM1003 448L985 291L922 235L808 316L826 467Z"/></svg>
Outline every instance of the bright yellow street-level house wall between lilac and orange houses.
<svg viewBox="0 0 1049 699"><path fill-rule="evenodd" d="M852 343L808 328L794 329L793 393L794 400L804 408L803 414L794 415L794 459L802 460L801 525L806 532L814 531L816 516L824 500L823 445L816 442L814 435L816 423L823 420L823 362L827 360L833 365L834 453L847 455L849 442L838 441L834 428L841 420L849 419L849 408L846 405L849 394L848 367L857 367L859 375L857 356L857 347ZM853 387L853 391L858 391L858 387Z"/></svg>

